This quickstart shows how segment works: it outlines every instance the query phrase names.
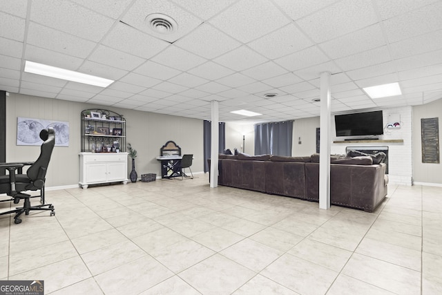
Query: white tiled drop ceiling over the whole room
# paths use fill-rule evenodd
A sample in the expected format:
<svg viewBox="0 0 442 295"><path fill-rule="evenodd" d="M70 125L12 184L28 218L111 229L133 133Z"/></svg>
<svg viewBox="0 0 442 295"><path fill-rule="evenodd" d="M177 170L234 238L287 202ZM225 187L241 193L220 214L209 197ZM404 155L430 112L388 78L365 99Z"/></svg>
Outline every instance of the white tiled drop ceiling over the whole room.
<svg viewBox="0 0 442 295"><path fill-rule="evenodd" d="M177 28L153 31L153 13ZM329 71L334 113L426 104L442 97L441 15L434 0L1 0L0 90L198 119L216 100L222 121L265 122L318 116ZM24 73L25 60L115 82ZM402 95L362 90L392 82Z"/></svg>

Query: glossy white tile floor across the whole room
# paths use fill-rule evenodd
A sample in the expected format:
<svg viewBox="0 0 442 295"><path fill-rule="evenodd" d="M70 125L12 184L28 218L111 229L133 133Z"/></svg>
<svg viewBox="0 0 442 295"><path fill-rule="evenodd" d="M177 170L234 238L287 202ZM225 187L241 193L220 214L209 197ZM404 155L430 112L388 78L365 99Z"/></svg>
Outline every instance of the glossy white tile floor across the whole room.
<svg viewBox="0 0 442 295"><path fill-rule="evenodd" d="M0 216L0 280L63 295L442 294L441 187L390 185L374 213L202 174L46 198L56 216Z"/></svg>

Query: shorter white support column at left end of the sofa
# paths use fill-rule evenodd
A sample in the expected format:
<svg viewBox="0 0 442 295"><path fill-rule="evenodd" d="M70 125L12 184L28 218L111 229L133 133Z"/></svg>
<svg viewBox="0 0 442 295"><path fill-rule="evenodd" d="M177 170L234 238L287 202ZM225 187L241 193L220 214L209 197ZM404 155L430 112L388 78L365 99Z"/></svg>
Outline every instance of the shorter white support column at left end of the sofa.
<svg viewBox="0 0 442 295"><path fill-rule="evenodd" d="M218 101L211 101L211 151L210 151L210 187L218 187L218 146L220 137L220 119Z"/></svg>

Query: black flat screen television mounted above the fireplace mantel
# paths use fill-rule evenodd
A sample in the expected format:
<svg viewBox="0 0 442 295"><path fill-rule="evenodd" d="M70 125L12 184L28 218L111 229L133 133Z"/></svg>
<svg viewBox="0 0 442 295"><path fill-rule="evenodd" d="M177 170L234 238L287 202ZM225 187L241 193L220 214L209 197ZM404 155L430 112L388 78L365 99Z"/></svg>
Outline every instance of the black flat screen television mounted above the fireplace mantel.
<svg viewBox="0 0 442 295"><path fill-rule="evenodd" d="M384 133L382 111L335 115L336 136L369 136Z"/></svg>

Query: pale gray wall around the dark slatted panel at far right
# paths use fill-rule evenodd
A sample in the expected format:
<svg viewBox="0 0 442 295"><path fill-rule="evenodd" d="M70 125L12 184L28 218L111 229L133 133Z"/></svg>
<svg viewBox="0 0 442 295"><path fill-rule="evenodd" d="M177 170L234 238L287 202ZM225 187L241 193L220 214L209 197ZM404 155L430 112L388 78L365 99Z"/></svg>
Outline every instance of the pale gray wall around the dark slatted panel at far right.
<svg viewBox="0 0 442 295"><path fill-rule="evenodd" d="M413 106L413 180L429 184L442 184L442 164L422 162L421 118L439 117L439 161L442 140L442 99L421 106Z"/></svg>

